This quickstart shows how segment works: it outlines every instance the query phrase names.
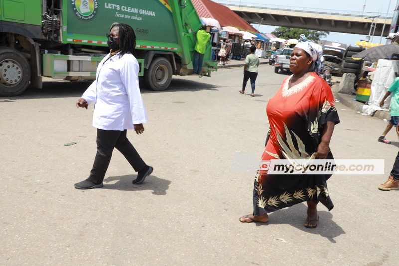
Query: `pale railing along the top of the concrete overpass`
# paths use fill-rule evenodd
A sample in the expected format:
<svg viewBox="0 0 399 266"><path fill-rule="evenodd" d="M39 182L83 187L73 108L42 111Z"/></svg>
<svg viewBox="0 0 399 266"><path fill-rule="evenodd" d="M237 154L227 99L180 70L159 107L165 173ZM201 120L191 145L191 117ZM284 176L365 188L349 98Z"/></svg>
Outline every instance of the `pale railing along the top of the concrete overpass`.
<svg viewBox="0 0 399 266"><path fill-rule="evenodd" d="M308 13L319 13L319 14L328 14L328 15L346 15L346 16L357 16L357 17L372 17L379 16L379 19L385 19L386 14L382 14L379 12L358 12L353 10L334 10L334 9L323 9L323 8L304 8L298 6L285 6L285 5L273 5L273 4L261 4L261 3L248 3L244 1L225 1L225 0L213 0L214 2L230 5L230 6L238 6L238 7L255 7L259 9L275 9L281 11L291 11L291 12L308 12ZM388 14L387 19L392 19L393 14Z"/></svg>

